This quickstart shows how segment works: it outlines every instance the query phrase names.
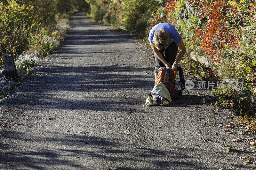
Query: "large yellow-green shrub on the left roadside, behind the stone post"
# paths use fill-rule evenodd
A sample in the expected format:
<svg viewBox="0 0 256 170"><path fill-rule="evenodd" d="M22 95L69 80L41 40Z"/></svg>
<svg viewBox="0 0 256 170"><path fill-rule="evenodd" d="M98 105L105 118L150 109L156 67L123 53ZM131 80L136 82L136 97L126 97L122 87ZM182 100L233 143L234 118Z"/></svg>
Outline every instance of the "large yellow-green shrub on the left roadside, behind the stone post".
<svg viewBox="0 0 256 170"><path fill-rule="evenodd" d="M39 30L52 32L60 28L57 31L63 35L62 32L67 29L68 14L74 11L87 10L88 7L84 0L1 1L0 67L3 67L2 56L4 54L12 54L17 59L18 55L29 50L28 45L31 45L31 38L33 35L36 36ZM59 22L61 19L62 21ZM57 25L56 23L64 23L64 25ZM53 48L54 44L56 43L52 41L49 43L49 47L45 48ZM41 51L44 51L45 48L42 48ZM35 50L31 51L34 52ZM50 51L44 51L44 54L49 54Z"/></svg>

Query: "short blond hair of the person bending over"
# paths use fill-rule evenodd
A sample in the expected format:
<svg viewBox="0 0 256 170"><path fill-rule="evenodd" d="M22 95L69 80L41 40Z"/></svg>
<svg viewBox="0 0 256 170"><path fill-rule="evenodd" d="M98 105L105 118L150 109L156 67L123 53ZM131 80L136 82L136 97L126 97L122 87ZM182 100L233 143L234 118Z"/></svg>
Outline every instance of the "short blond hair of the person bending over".
<svg viewBox="0 0 256 170"><path fill-rule="evenodd" d="M162 48L168 47L167 44L169 42L169 39L170 39L170 35L164 29L156 30L153 37L153 41L151 43L157 49L162 49Z"/></svg>

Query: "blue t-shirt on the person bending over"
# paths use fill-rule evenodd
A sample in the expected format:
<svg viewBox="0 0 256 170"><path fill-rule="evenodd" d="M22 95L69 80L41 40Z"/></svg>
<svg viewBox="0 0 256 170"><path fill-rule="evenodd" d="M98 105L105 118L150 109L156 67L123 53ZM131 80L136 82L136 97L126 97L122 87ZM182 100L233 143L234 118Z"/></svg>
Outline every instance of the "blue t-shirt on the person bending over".
<svg viewBox="0 0 256 170"><path fill-rule="evenodd" d="M156 30L164 29L170 35L170 40L167 45L171 44L173 41L178 44L181 41L181 36L178 31L174 28L173 25L168 23L160 23L153 26L153 28L149 31L148 41L152 43L153 37Z"/></svg>

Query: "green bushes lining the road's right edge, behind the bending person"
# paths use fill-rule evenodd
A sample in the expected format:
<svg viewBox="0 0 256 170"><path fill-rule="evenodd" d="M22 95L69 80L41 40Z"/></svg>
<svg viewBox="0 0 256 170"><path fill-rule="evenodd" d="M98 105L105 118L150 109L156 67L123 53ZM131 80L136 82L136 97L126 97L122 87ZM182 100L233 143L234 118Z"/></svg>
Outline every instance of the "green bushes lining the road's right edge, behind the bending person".
<svg viewBox="0 0 256 170"><path fill-rule="evenodd" d="M151 13L158 11L164 0L86 0L90 4L90 16L97 22L103 22L124 29L140 38L148 36L152 22Z"/></svg>

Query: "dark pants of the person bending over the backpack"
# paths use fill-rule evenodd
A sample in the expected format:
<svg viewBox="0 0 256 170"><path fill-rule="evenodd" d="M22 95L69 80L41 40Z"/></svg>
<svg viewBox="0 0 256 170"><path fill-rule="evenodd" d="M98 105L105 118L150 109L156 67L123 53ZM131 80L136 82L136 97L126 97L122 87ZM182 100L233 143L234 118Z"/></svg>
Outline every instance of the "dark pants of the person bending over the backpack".
<svg viewBox="0 0 256 170"><path fill-rule="evenodd" d="M161 55L164 57L164 60L169 63L169 64L173 64L176 60L176 56L178 53L178 46L175 42L172 42L172 44L170 44L167 48L162 48L159 50L159 52L161 53ZM157 56L155 55L155 61L156 61L156 66L155 66L155 73L157 72L157 70L160 67L165 67L164 63L161 62Z"/></svg>

